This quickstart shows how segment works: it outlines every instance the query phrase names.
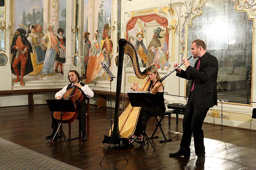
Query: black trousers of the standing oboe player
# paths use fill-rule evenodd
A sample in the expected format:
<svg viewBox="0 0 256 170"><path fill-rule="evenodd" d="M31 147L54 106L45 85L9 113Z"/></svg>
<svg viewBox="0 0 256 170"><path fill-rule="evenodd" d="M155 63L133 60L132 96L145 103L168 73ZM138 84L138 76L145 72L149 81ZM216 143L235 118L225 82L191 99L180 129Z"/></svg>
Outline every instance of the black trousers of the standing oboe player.
<svg viewBox="0 0 256 170"><path fill-rule="evenodd" d="M194 91L190 95L183 118L183 135L179 151L190 153L190 143L193 133L196 155L204 156L205 148L203 144L202 125L209 108L197 108Z"/></svg>

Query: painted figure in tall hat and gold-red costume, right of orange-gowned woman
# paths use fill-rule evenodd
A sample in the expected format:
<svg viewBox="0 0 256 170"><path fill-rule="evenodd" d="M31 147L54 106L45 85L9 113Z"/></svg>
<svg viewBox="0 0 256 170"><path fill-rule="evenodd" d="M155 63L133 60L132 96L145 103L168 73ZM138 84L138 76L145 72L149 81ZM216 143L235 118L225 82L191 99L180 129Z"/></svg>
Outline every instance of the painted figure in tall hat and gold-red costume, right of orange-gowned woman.
<svg viewBox="0 0 256 170"><path fill-rule="evenodd" d="M106 60L106 66L108 66L108 68L109 68L111 66L110 59L113 57L113 55L112 55L113 42L111 40L111 36L109 35L109 24L108 23L106 23L103 28L102 39L100 41L100 48L103 51L103 55ZM104 74L102 74L102 77L105 79ZM110 80L109 75L108 75L108 80Z"/></svg>

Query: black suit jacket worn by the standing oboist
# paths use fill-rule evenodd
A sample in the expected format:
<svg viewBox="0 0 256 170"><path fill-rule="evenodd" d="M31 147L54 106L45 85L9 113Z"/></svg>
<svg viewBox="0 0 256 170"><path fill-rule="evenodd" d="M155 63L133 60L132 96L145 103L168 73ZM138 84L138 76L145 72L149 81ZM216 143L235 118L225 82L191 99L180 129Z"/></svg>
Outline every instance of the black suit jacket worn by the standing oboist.
<svg viewBox="0 0 256 170"><path fill-rule="evenodd" d="M194 67L188 66L186 71L181 70L180 73L176 73L176 76L192 80L191 87L194 82L193 80L195 80L194 93L196 106L198 108L210 108L217 105L218 61L209 52L206 52L200 60L199 70L196 69L197 60Z"/></svg>

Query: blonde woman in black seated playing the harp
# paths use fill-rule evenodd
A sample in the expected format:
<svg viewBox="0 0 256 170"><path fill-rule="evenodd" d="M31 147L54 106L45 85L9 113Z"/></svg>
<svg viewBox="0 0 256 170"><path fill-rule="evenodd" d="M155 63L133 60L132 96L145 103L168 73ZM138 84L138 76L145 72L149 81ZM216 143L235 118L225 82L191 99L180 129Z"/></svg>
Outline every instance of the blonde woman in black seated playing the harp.
<svg viewBox="0 0 256 170"><path fill-rule="evenodd" d="M148 91L151 91L155 95L156 103L158 107L157 108L146 107L145 109L141 110L138 121L137 121L136 130L134 132L134 135L139 136L139 138L142 138L140 134L143 131L144 132L146 131L146 126L149 118L157 116L165 112L166 110L165 102L164 102L165 99L163 98L164 87L163 87L163 84L159 82L160 76L158 74L156 67L153 64L148 66L147 74L148 74L148 78L150 79L150 88L148 89ZM138 83L133 83L133 85L131 86L131 89L133 91L139 91ZM144 124L142 123L143 119L144 119Z"/></svg>

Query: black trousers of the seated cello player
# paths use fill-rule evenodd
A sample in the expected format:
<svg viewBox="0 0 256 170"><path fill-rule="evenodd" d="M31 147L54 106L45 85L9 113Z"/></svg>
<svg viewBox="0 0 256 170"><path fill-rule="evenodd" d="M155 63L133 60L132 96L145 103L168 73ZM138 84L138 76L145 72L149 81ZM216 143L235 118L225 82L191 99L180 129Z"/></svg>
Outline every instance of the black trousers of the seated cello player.
<svg viewBox="0 0 256 170"><path fill-rule="evenodd" d="M85 114L87 113L87 108L86 106L82 106L82 105L79 105L77 106L77 118L76 119L79 119L79 131L85 131L86 130L86 121L85 121ZM58 129L58 124L59 122L57 121L57 119L55 119L53 117L53 113L52 113L52 129Z"/></svg>

